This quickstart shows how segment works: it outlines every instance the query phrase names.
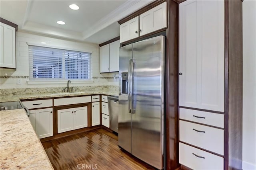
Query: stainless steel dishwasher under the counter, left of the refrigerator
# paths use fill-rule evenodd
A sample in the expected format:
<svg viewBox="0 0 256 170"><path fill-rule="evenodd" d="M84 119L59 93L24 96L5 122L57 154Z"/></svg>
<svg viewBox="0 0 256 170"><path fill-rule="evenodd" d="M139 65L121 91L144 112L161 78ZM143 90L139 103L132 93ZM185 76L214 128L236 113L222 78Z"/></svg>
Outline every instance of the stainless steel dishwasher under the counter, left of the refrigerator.
<svg viewBox="0 0 256 170"><path fill-rule="evenodd" d="M108 113L110 129L118 133L118 97L108 96Z"/></svg>

